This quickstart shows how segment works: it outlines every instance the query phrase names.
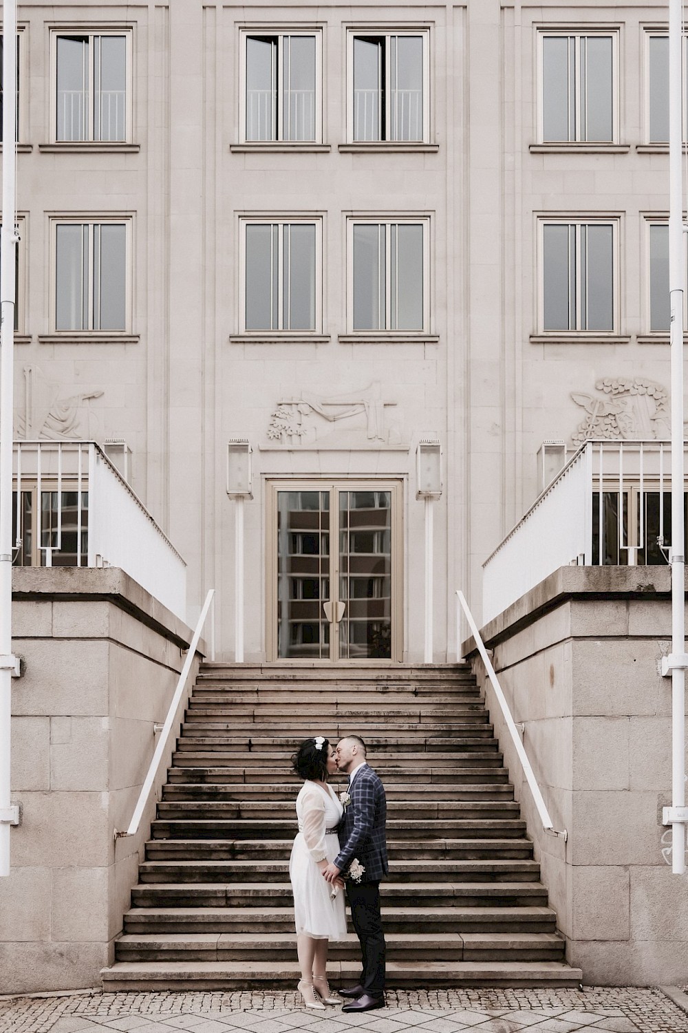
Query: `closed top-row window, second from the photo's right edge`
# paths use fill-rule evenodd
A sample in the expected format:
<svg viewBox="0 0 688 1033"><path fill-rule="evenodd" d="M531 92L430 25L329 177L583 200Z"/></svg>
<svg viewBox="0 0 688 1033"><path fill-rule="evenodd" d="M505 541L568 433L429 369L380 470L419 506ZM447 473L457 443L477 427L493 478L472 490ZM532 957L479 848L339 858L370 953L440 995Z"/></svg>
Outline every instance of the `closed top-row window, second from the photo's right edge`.
<svg viewBox="0 0 688 1033"><path fill-rule="evenodd" d="M616 52L614 32L540 33L542 143L616 140Z"/></svg>

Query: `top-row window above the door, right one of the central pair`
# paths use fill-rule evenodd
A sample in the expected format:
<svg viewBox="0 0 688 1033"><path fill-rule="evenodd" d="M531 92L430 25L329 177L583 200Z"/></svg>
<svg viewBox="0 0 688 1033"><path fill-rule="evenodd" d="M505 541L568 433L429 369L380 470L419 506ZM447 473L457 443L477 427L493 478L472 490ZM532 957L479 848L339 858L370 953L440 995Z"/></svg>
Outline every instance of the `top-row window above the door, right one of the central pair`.
<svg viewBox="0 0 688 1033"><path fill-rule="evenodd" d="M428 138L428 32L349 34L349 138Z"/></svg>

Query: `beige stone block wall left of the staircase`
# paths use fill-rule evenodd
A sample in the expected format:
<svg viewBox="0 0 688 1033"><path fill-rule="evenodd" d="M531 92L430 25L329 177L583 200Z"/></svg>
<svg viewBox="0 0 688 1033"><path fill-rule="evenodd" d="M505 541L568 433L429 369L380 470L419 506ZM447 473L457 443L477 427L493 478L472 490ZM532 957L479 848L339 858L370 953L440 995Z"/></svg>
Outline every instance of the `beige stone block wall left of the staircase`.
<svg viewBox="0 0 688 1033"><path fill-rule="evenodd" d="M155 801L136 836L114 833L131 818L191 634L119 570L13 573L22 823L0 879L0 993L93 987L113 960Z"/></svg>

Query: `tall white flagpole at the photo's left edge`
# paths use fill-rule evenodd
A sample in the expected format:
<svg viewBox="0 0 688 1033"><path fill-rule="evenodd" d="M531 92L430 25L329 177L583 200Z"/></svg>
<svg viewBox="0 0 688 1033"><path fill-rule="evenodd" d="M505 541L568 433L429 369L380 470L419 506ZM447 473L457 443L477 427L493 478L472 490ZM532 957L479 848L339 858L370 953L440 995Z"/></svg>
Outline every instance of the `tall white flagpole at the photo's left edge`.
<svg viewBox="0 0 688 1033"><path fill-rule="evenodd" d="M9 875L12 656L12 413L14 358L17 0L2 18L2 233L0 234L0 876Z"/></svg>

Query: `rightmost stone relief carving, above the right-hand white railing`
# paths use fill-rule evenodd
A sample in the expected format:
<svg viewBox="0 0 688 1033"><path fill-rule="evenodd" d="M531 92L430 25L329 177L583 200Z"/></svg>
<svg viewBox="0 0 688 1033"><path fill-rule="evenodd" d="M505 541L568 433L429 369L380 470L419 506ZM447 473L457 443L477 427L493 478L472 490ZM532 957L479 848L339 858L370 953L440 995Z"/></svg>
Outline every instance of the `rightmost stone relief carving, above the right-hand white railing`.
<svg viewBox="0 0 688 1033"><path fill-rule="evenodd" d="M602 396L571 393L571 399L587 413L571 437L574 444L589 438L620 441L670 436L668 392L655 380L607 377L597 380L595 389Z"/></svg>

